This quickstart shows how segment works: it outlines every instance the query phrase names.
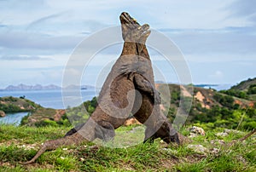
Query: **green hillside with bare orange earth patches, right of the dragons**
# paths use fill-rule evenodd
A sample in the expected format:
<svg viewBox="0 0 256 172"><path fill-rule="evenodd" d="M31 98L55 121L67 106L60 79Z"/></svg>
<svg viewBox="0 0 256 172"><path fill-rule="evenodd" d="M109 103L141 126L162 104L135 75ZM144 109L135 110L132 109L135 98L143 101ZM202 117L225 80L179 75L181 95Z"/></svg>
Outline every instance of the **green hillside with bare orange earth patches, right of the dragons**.
<svg viewBox="0 0 256 172"><path fill-rule="evenodd" d="M183 124L205 123L205 127L210 128L256 128L255 100L227 95L223 91L218 92L214 89L192 88L177 84L168 84L167 87L169 94L163 90L166 88L165 84L157 85L162 93L162 110L171 121L174 118L185 118L186 123ZM171 95L171 106L168 108L166 96L169 95Z"/></svg>

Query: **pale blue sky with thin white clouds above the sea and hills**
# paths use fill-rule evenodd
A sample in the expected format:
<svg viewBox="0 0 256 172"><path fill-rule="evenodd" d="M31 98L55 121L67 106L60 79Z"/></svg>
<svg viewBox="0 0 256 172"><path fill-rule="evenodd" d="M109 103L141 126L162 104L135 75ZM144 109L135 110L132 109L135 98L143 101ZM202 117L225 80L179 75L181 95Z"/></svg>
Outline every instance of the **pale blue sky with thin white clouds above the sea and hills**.
<svg viewBox="0 0 256 172"><path fill-rule="evenodd" d="M255 7L256 1L249 0L0 0L0 89L20 83L61 86L74 49L97 32L119 26L123 11L177 46L192 83L236 84L256 76ZM94 85L121 49L116 43L99 50L81 84ZM159 70L168 83L180 82L165 54L148 50L154 72Z"/></svg>

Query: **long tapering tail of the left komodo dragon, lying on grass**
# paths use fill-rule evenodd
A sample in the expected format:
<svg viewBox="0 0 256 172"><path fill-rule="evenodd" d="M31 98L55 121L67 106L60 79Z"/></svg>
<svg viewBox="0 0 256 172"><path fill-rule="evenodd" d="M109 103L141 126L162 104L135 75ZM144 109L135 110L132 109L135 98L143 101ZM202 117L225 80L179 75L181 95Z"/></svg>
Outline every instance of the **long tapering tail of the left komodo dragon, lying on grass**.
<svg viewBox="0 0 256 172"><path fill-rule="evenodd" d="M60 146L79 145L84 141L85 141L84 137L82 135L80 135L79 132L77 132L73 135L68 135L61 139L45 141L44 145L41 147L41 149L38 151L38 153L35 155L34 158L32 158L30 161L27 161L25 163L22 163L22 162L20 162L20 163L21 164L33 163L36 161L36 159L40 155L42 155L47 150L55 150L56 148L58 148Z"/></svg>

